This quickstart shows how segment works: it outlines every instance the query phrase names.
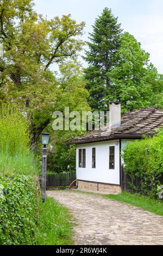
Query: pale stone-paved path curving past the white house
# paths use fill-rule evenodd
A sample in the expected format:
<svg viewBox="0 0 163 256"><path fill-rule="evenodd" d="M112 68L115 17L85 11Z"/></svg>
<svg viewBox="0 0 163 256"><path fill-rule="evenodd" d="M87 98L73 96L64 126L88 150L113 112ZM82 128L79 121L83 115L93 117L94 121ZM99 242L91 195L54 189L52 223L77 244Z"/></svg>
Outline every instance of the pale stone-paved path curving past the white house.
<svg viewBox="0 0 163 256"><path fill-rule="evenodd" d="M75 245L163 245L163 217L77 191L48 191L70 209Z"/></svg>

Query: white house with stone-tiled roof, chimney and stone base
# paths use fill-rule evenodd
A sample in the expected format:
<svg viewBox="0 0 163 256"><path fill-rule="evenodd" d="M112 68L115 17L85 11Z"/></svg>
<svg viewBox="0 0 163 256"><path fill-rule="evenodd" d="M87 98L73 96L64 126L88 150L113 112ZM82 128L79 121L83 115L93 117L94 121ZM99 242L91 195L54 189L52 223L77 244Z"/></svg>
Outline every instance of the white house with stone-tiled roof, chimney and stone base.
<svg viewBox="0 0 163 256"><path fill-rule="evenodd" d="M153 136L163 127L163 109L139 108L122 115L119 102L110 103L111 130L94 130L69 141L76 144L78 188L118 193L123 189L121 150L129 141ZM134 157L134 156L133 156Z"/></svg>

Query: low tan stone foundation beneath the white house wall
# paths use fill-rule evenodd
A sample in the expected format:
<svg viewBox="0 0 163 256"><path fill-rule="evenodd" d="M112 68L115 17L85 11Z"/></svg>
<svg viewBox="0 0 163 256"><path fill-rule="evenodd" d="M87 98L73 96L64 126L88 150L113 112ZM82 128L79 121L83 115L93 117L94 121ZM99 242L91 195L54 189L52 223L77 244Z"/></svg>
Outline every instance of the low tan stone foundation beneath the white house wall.
<svg viewBox="0 0 163 256"><path fill-rule="evenodd" d="M84 181L84 180L78 180L78 188L79 190L98 191L98 192L104 192L104 193L110 193L110 194L117 194L122 192L121 186L118 186L118 185Z"/></svg>

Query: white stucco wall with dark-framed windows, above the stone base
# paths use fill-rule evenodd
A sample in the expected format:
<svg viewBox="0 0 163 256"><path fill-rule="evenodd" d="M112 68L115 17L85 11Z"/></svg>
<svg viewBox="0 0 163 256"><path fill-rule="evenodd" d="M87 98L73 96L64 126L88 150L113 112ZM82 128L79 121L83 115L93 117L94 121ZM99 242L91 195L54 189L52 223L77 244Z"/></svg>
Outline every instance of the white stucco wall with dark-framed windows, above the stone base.
<svg viewBox="0 0 163 256"><path fill-rule="evenodd" d="M115 146L115 169L109 169L109 147ZM96 148L96 168L92 168L92 148ZM86 167L78 167L78 149L86 149ZM115 141L77 145L77 179L120 185L120 143Z"/></svg>

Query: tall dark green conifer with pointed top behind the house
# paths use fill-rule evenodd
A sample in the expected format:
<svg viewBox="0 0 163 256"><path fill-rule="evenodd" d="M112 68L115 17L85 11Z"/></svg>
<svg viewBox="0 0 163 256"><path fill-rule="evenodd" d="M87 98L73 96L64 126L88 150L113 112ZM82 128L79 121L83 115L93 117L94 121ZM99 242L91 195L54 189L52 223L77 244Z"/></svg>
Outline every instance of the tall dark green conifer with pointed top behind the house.
<svg viewBox="0 0 163 256"><path fill-rule="evenodd" d="M89 64L85 69L86 88L90 92L92 109L104 109L105 96L110 87L109 71L117 63L116 52L120 47L121 24L118 24L111 9L105 8L95 21L93 32L84 59Z"/></svg>

